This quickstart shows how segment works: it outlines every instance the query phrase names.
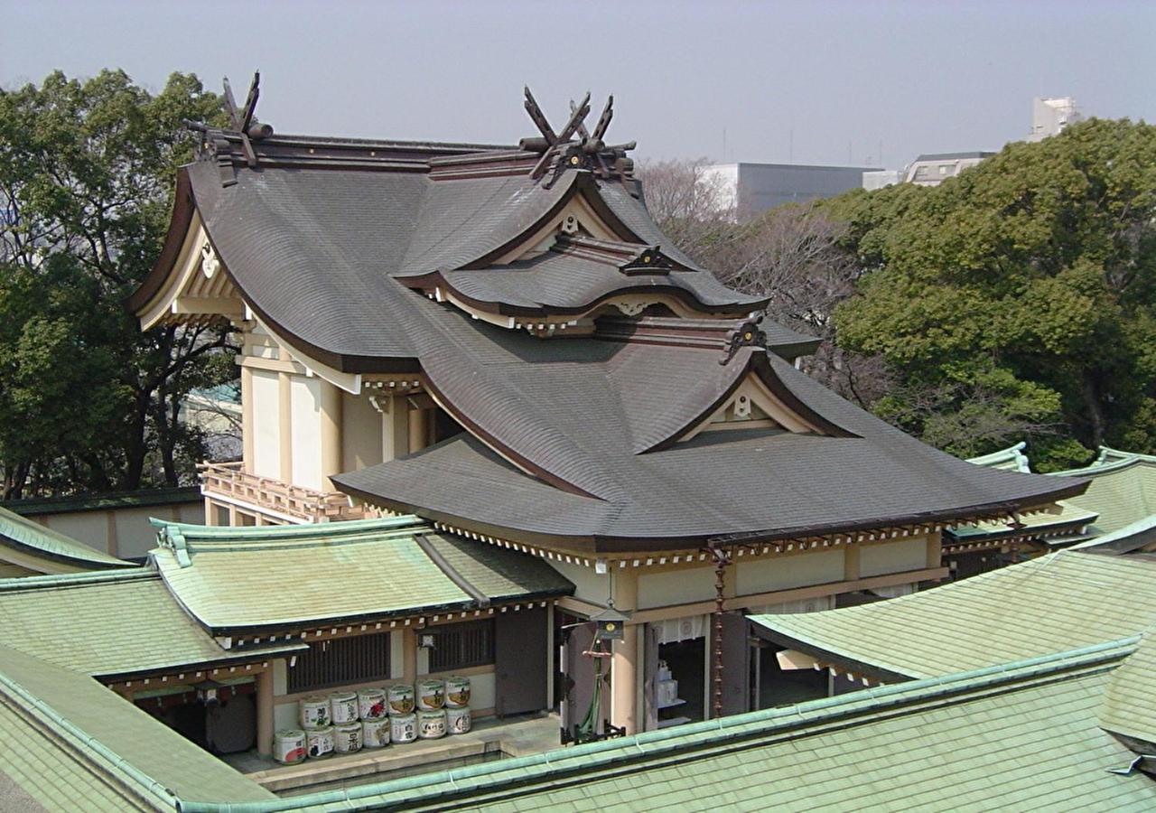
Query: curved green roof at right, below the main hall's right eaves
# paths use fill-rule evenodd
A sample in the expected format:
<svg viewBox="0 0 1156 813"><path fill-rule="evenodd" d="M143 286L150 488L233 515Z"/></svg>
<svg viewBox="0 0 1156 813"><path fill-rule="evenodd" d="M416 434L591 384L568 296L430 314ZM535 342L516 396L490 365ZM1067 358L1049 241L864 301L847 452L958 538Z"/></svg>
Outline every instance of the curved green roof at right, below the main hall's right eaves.
<svg viewBox="0 0 1156 813"><path fill-rule="evenodd" d="M1060 550L887 601L751 620L828 660L927 678L1138 635L1156 623L1156 567Z"/></svg>

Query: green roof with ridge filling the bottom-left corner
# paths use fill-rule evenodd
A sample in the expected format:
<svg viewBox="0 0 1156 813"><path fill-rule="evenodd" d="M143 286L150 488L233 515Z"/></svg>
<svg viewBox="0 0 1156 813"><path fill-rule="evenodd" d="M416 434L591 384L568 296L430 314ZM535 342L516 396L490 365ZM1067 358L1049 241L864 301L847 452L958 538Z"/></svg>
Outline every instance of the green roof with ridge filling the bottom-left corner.
<svg viewBox="0 0 1156 813"><path fill-rule="evenodd" d="M224 762L77 672L0 645L0 773L46 810L274 801Z"/></svg>

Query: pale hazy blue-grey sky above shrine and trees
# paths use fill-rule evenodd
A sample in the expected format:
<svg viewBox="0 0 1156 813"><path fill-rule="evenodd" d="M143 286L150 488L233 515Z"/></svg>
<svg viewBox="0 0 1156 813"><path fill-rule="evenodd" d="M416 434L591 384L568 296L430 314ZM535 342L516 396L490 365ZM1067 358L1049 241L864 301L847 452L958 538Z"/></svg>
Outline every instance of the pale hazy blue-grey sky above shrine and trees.
<svg viewBox="0 0 1156 813"><path fill-rule="evenodd" d="M638 157L899 168L1022 138L1032 96L1156 120L1154 42L1156 2L1109 0L0 0L0 86L121 67L243 95L260 68L281 132L512 142L528 83L555 127L613 93Z"/></svg>

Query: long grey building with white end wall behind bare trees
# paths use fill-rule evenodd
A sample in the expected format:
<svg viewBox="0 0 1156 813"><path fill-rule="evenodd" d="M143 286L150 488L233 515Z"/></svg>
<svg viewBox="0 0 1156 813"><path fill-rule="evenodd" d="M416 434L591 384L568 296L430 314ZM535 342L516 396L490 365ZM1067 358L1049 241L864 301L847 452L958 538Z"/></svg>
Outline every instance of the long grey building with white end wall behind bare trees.
<svg viewBox="0 0 1156 813"><path fill-rule="evenodd" d="M832 198L864 183L872 167L814 167L807 164L716 164L705 168L707 180L719 185L720 204L742 220L759 212Z"/></svg>

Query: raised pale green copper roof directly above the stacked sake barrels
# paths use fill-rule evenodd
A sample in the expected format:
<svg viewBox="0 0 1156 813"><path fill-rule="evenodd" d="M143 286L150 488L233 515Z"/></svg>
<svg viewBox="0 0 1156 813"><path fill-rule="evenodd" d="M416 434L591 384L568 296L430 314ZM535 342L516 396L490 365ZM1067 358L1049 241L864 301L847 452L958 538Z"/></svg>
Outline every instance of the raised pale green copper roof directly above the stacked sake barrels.
<svg viewBox="0 0 1156 813"><path fill-rule="evenodd" d="M154 522L161 575L215 634L476 607L464 582L490 600L573 590L542 560L443 537L413 516L228 529Z"/></svg>

